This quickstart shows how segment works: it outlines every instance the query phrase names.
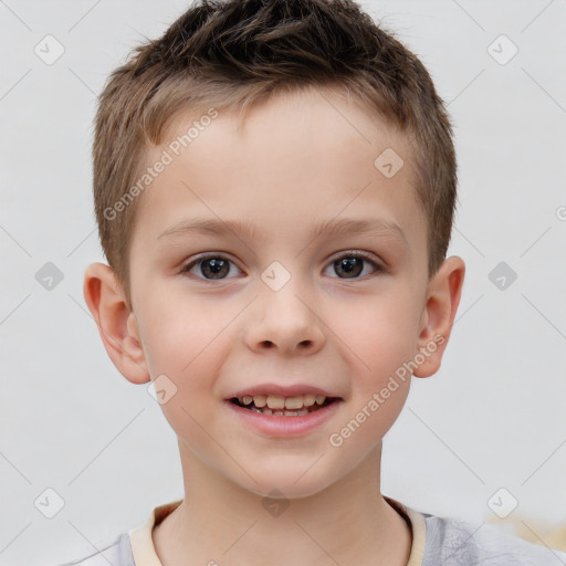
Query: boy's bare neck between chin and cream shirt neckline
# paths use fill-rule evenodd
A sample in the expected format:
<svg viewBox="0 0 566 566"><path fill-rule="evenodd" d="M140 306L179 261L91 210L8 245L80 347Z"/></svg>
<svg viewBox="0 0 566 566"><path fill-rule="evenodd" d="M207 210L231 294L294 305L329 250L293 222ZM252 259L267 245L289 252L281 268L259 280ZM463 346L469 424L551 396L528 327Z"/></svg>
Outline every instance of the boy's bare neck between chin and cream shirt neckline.
<svg viewBox="0 0 566 566"><path fill-rule="evenodd" d="M381 496L380 447L338 482L286 500L235 485L179 446L186 497L153 533L164 566L407 565L410 530Z"/></svg>

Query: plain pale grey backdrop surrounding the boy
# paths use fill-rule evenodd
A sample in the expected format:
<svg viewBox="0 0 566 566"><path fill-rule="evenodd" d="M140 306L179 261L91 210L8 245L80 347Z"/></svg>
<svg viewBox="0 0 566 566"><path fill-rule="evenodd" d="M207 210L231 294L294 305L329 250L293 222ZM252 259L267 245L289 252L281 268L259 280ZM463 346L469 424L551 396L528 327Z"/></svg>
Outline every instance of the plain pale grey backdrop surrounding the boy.
<svg viewBox="0 0 566 566"><path fill-rule="evenodd" d="M187 6L0 1L3 565L93 553L182 496L176 438L146 387L107 358L82 277L103 260L91 197L96 94ZM544 539L566 523L566 1L364 7L449 102L461 202L450 253L468 266L442 368L413 380L386 437L384 493L478 526L522 518ZM56 54L48 34L64 48L50 65L34 52L48 56L52 41ZM501 34L518 49L510 61ZM48 262L63 274L51 290L35 277ZM516 273L503 290L490 280L500 262ZM64 501L53 518L40 512L54 510L46 489ZM50 503L38 509L38 497ZM500 520L490 502L506 509L512 497L517 509Z"/></svg>

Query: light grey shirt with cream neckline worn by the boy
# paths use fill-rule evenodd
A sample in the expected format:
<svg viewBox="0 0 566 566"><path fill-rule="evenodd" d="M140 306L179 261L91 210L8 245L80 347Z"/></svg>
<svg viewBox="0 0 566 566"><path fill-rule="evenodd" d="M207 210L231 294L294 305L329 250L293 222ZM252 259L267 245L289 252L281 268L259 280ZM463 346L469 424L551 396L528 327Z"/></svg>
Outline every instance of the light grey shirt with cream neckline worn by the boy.
<svg viewBox="0 0 566 566"><path fill-rule="evenodd" d="M494 525L470 523L420 513L385 496L411 527L412 545L407 566L566 566L566 553L528 543ZM151 531L181 501L160 505L137 528L124 533L107 548L61 566L163 566Z"/></svg>

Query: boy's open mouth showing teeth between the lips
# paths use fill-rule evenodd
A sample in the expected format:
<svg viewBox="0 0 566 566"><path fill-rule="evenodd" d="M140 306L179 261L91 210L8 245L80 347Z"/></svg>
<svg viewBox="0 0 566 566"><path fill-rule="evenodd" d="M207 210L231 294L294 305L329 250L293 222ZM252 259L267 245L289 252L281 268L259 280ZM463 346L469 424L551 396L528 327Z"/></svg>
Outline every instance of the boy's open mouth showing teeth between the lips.
<svg viewBox="0 0 566 566"><path fill-rule="evenodd" d="M296 397L280 397L276 395L254 395L252 397L247 395L230 399L238 407L272 417L302 417L311 415L337 400L337 397L312 394L298 395Z"/></svg>

